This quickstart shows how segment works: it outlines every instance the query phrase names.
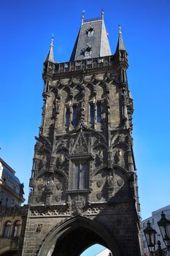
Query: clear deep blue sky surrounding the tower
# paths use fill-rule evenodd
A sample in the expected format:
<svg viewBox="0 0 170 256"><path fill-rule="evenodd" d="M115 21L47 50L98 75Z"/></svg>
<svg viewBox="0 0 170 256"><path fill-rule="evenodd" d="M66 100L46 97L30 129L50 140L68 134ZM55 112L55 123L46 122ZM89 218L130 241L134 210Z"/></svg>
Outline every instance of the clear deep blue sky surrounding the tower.
<svg viewBox="0 0 170 256"><path fill-rule="evenodd" d="M117 25L128 50L134 97L134 154L142 218L169 205L170 1L6 0L0 4L0 156L25 184L42 113L42 64L54 34L57 61L68 61L81 23L104 9L112 53Z"/></svg>

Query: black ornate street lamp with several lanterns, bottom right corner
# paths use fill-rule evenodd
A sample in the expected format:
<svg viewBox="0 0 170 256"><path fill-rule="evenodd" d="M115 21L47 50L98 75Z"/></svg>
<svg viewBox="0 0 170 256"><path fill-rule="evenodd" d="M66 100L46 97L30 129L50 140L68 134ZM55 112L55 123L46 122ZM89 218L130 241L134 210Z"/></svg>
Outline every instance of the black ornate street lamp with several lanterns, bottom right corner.
<svg viewBox="0 0 170 256"><path fill-rule="evenodd" d="M147 222L147 227L144 229L144 236L147 241L147 246L150 250L150 255L155 256L165 256L167 253L169 253L170 248L170 221L169 219L166 219L165 214L161 214L161 219L158 222L158 226L161 230L161 235L163 237L163 241L166 244L166 248L161 248L161 241L158 240L158 249L155 250L155 244L156 244L156 231L151 227L150 221Z"/></svg>

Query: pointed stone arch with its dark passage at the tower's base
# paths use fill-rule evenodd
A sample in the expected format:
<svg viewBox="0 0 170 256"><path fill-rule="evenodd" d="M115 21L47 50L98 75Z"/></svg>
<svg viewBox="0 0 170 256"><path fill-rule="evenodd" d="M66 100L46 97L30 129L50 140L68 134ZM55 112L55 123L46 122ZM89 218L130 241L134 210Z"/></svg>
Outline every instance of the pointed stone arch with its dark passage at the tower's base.
<svg viewBox="0 0 170 256"><path fill-rule="evenodd" d="M120 256L114 238L100 223L76 216L47 234L37 256L77 256L96 243L106 246L114 256Z"/></svg>

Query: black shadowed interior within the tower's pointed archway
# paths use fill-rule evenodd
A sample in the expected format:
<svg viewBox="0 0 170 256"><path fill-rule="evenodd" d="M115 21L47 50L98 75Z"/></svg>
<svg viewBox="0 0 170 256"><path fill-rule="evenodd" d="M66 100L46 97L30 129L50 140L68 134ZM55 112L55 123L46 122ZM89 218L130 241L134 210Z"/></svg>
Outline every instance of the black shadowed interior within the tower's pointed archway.
<svg viewBox="0 0 170 256"><path fill-rule="evenodd" d="M107 247L103 238L87 227L77 227L69 233L64 233L58 238L53 251L53 256L79 256L92 244L101 244Z"/></svg>

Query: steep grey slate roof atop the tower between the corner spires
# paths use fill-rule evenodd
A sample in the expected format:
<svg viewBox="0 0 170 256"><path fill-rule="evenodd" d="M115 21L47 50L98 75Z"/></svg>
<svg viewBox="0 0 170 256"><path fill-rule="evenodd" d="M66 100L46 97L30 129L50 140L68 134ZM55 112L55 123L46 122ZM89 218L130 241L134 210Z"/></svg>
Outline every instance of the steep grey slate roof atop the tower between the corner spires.
<svg viewBox="0 0 170 256"><path fill-rule="evenodd" d="M92 35L88 35L91 29ZM91 49L90 56L85 56L86 48ZM80 27L70 61L112 55L109 47L109 39L102 18L84 20Z"/></svg>

